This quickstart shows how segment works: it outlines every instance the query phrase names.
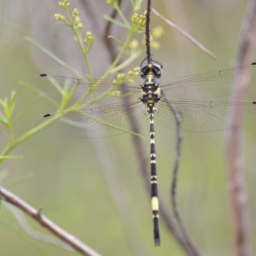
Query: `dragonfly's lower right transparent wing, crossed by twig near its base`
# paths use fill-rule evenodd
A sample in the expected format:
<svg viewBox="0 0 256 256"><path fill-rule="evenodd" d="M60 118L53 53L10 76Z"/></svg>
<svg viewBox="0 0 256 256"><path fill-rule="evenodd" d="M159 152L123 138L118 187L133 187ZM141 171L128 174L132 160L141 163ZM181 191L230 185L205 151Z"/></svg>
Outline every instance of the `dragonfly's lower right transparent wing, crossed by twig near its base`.
<svg viewBox="0 0 256 256"><path fill-rule="evenodd" d="M202 100L174 100L172 106L182 115L182 130L194 132L221 131L233 126L256 122L256 104L253 102L212 102ZM175 118L168 100L157 105L157 123L175 129Z"/></svg>

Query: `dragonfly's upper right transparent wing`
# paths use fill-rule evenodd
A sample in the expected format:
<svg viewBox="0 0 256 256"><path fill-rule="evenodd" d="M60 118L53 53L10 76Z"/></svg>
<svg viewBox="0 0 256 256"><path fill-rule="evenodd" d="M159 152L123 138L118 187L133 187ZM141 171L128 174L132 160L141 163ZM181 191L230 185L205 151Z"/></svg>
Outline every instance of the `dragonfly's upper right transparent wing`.
<svg viewBox="0 0 256 256"><path fill-rule="evenodd" d="M218 97L240 90L243 81L237 78L241 76L243 76L243 79L248 84L246 88L255 85L256 65L251 64L218 72L180 77L168 83L161 84L161 90L170 99L206 99Z"/></svg>

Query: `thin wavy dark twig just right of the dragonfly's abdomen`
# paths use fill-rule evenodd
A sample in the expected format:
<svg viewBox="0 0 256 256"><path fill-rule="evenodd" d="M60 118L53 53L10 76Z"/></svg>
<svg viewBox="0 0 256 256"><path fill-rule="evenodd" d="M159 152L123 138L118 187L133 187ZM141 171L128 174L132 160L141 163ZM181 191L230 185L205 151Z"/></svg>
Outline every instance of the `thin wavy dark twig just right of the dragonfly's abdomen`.
<svg viewBox="0 0 256 256"><path fill-rule="evenodd" d="M164 92L162 92L163 97ZM182 134L181 134L181 124L182 124L182 113L179 113L173 106L172 102L168 101L168 106L170 107L173 116L175 117L176 122L176 150L175 150L175 159L173 163L173 170L172 170L172 185L171 185L171 198L172 198L172 205L173 211L175 214L175 218L179 223L180 230L182 232L182 236L184 237L186 244L188 244L189 248L191 248L191 255L200 256L202 253L199 252L196 245L193 243L192 239L189 237L188 231L186 230L186 225L182 220L182 216L180 214L179 205L177 202L177 194L176 194L176 186L177 186L177 177L178 177L178 170L179 170L179 161L180 161L180 147L182 142Z"/></svg>

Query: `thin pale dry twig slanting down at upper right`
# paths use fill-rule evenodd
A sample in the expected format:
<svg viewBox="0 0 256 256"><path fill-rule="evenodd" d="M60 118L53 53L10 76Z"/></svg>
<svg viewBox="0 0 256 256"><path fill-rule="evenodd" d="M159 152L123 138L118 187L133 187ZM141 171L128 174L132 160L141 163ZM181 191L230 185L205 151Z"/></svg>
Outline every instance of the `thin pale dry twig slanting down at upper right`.
<svg viewBox="0 0 256 256"><path fill-rule="evenodd" d="M163 19L168 25L170 25L172 28L174 28L176 31L178 31L181 35L185 36L188 40L190 40L193 44L195 44L201 51L205 52L207 55L209 55L212 59L216 59L216 56L209 51L204 45L200 44L195 38L193 38L191 35L186 33L184 30L179 28L177 25L175 25L170 20L163 17L160 13L158 13L154 8L151 8L152 12L154 12L159 18Z"/></svg>

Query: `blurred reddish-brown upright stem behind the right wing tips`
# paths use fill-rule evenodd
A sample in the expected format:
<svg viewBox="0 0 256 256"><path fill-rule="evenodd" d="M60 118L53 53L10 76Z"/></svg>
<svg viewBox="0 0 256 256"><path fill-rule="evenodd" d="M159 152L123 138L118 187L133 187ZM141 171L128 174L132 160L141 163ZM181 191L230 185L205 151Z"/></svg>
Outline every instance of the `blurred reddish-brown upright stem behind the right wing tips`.
<svg viewBox="0 0 256 256"><path fill-rule="evenodd" d="M251 62L252 50L254 45L256 24L256 1L251 0L248 3L246 16L240 33L239 46L237 51L237 65L243 66ZM246 86L245 77L237 77L240 86ZM236 83L237 84L237 83ZM232 101L243 101L246 95L244 90L237 90L232 95ZM237 109L239 111L239 109ZM236 122L234 112L232 120ZM241 145L243 145L243 129L234 127L227 134L227 157L228 157L228 183L230 184L230 201L232 205L232 219L234 225L234 255L249 255L248 249L248 198L246 193L246 185L244 181L243 171L243 155Z"/></svg>

